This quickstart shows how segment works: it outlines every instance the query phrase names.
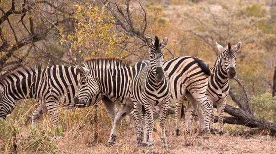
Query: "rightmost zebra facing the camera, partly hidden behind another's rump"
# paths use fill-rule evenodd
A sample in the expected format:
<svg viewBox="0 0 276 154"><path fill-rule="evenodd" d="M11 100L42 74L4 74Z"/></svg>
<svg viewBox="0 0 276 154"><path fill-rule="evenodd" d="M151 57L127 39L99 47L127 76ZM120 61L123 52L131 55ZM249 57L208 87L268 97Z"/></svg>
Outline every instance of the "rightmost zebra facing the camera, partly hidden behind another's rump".
<svg viewBox="0 0 276 154"><path fill-rule="evenodd" d="M206 95L211 103L217 104L218 110L218 124L219 124L219 134L224 134L223 131L223 117L224 108L226 105L227 95L229 92L229 79L233 79L236 76L236 52L241 50L242 42L239 42L233 49L231 49L230 43L224 48L216 43L217 48L221 52L218 55L214 66L211 68L213 75L209 77L208 87ZM178 107L180 104L178 105ZM195 103L188 99L187 111L186 111L186 127L189 132L191 129L191 112L193 107L196 108ZM212 112L210 121L210 131L212 134L214 132L213 126L214 113ZM200 127L202 129L202 122L200 122Z"/></svg>

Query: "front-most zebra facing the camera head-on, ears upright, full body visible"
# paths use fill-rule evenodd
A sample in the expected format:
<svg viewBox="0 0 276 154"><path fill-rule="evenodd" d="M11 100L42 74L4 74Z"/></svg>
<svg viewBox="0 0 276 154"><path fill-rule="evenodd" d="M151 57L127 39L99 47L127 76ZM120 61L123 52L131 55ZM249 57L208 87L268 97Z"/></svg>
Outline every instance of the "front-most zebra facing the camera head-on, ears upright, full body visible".
<svg viewBox="0 0 276 154"><path fill-rule="evenodd" d="M171 97L171 84L169 77L165 74L162 66L164 63L164 54L162 49L167 45L167 37L159 43L159 39L155 36L154 44L150 37L146 39L146 45L149 48L149 65L145 66L140 72L134 74L130 79L130 93L134 103L134 112L136 113L136 131L137 143L140 144L141 139L141 110L145 109L145 125L149 135L148 146L153 146L152 129L153 129L153 109L156 105L160 108L160 126L161 141L164 148L168 148L166 143L165 122L166 113ZM145 129L145 128L144 128ZM142 143L144 146L147 143Z"/></svg>

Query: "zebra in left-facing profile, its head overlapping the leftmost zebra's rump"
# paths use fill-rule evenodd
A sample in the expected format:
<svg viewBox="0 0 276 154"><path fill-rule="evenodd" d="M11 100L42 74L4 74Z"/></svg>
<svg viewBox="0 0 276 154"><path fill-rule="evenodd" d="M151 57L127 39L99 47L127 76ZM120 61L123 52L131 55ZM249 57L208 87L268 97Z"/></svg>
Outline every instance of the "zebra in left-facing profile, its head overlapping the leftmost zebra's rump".
<svg viewBox="0 0 276 154"><path fill-rule="evenodd" d="M119 59L91 59L78 66L82 84L78 85L76 93L80 104L91 106L96 100L104 98L104 105L109 108L107 112L112 121L112 128L108 146L115 143L122 118L133 108L129 93L129 77L145 65L145 62L140 62L139 65L129 66L127 62ZM121 104L118 113L116 104Z"/></svg>

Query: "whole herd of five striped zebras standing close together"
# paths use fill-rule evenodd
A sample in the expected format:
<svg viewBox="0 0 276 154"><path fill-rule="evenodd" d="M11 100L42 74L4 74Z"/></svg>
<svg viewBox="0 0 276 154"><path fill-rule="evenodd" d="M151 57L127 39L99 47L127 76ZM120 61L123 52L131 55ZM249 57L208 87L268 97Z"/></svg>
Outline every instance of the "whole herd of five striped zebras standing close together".
<svg viewBox="0 0 276 154"><path fill-rule="evenodd" d="M175 102L176 135L179 135L181 106L188 99L186 112L187 131L190 131L190 116L193 108L200 116L200 133L208 139L214 133L214 112L218 108L219 134L223 134L223 112L229 92L229 79L236 75L236 52L230 43L224 48L217 44L221 54L213 67L193 57L177 57L164 62L162 48L168 43L146 39L149 61L130 65L120 59L101 58L82 62L77 66L54 65L43 68L35 65L20 68L0 78L0 118L6 119L15 108L17 100L35 98L40 106L32 115L32 127L39 117L48 112L53 125L58 125L59 105L89 107L102 100L111 119L112 127L108 145L116 141L117 129L124 116L131 112L135 120L137 143L140 145L141 124L144 130L142 146L153 146L153 110L161 111L161 141L168 148L165 135L166 112L169 103ZM117 111L116 105L120 105ZM143 114L142 114L143 113Z"/></svg>

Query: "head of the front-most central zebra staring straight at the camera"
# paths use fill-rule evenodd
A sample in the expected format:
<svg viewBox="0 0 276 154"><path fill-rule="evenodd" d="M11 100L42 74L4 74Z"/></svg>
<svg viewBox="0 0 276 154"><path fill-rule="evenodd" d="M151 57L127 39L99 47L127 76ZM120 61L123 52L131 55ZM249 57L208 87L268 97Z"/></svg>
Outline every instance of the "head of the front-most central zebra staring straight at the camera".
<svg viewBox="0 0 276 154"><path fill-rule="evenodd" d="M150 37L146 39L146 45L149 48L149 69L155 75L155 80L161 82L164 78L163 63L164 54L162 49L167 45L168 38L165 37L161 43L157 36L154 38L154 44Z"/></svg>

